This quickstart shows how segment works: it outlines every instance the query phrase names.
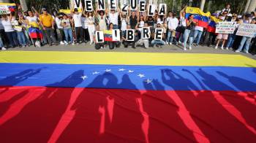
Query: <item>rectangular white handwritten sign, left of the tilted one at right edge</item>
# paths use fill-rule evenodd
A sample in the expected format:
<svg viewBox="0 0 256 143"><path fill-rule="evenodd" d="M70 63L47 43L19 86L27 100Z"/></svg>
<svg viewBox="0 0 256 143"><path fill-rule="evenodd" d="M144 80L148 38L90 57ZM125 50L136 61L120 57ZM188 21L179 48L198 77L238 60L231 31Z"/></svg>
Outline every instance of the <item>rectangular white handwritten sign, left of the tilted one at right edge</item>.
<svg viewBox="0 0 256 143"><path fill-rule="evenodd" d="M219 22L216 25L217 34L233 34L236 29L236 22Z"/></svg>

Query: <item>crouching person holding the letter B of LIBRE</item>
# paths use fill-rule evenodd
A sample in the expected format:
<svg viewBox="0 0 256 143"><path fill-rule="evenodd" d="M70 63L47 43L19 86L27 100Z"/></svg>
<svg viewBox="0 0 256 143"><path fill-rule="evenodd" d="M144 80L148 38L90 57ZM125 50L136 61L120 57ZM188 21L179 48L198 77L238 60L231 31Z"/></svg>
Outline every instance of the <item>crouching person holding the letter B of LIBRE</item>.
<svg viewBox="0 0 256 143"><path fill-rule="evenodd" d="M131 30L131 26L127 25L127 30L124 31L122 35L123 45L124 47L128 47L129 45L135 49L135 31Z"/></svg>

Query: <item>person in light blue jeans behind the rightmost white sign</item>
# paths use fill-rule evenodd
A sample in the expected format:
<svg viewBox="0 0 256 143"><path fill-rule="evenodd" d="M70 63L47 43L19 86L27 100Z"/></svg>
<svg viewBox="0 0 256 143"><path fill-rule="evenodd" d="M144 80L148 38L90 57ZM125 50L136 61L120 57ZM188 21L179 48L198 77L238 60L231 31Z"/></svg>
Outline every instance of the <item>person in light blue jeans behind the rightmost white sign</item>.
<svg viewBox="0 0 256 143"><path fill-rule="evenodd" d="M256 24L256 19L252 19L251 24ZM253 30L256 31L256 29L253 29ZM241 50L243 50L243 47L244 47L244 53L249 53L249 45L251 44L252 38L255 38L255 36L253 37L243 36L241 43L238 47L238 50L236 50L236 53L241 52Z"/></svg>

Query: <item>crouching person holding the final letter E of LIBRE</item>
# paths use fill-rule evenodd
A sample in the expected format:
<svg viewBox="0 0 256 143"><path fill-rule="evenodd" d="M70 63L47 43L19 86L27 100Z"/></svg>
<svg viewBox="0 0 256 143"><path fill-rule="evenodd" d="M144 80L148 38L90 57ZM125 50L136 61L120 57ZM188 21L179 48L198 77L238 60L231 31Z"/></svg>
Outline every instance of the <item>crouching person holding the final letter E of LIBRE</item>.
<svg viewBox="0 0 256 143"><path fill-rule="evenodd" d="M164 30L161 26L160 23L157 24L157 28L155 29L154 32L154 40L151 41L151 45L157 45L157 47L160 45L165 45L165 42L162 40L165 39L165 34L164 34Z"/></svg>

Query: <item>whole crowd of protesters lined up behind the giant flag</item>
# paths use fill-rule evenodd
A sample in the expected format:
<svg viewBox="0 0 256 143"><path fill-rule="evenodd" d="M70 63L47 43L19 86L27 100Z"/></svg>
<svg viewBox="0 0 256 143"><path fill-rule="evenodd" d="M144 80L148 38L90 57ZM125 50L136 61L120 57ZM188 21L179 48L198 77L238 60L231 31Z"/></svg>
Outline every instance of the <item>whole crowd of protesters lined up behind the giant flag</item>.
<svg viewBox="0 0 256 143"><path fill-rule="evenodd" d="M12 47L27 47L34 45L79 45L89 43L97 50L109 47L111 50L124 45L124 47L162 47L162 45L178 45L184 50L192 50L198 45L213 46L216 49L234 50L236 52L255 53L256 39L246 36L236 36L236 31L241 23L256 23L256 13L238 15L231 14L230 4L225 9L212 14L222 21L236 22L234 34L217 34L208 28L198 26L195 15L186 18L186 7L176 15L175 12L166 12L159 15L156 10L154 16L148 16L147 12L139 12L128 8L128 12L121 9L95 9L86 12L85 9L71 8L70 14L54 11L48 13L48 9L42 8L39 14L34 7L27 12L11 12L9 15L1 15L0 20L0 47L7 50ZM208 23L211 23L209 19ZM151 36L148 39L141 38L141 29L150 28ZM162 28L162 39L154 39L155 29ZM121 40L105 40L98 43L95 37L96 31L110 33L113 29L119 29ZM135 39L127 40L127 29L135 30ZM219 46L220 45L220 46Z"/></svg>

